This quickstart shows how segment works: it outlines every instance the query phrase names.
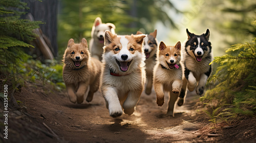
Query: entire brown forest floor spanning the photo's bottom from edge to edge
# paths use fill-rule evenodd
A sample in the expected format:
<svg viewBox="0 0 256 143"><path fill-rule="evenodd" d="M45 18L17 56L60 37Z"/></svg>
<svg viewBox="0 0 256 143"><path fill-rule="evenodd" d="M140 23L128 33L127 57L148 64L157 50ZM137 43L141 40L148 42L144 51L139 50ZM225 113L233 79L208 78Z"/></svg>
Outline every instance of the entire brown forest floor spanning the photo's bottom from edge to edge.
<svg viewBox="0 0 256 143"><path fill-rule="evenodd" d="M4 87L2 82L0 85ZM8 139L4 138L4 125L0 126L3 142L256 141L255 117L226 128L212 128L203 107L197 104L199 96L188 96L183 106L176 106L175 117L172 117L165 115L167 94L164 105L159 107L154 90L150 96L143 92L134 114L117 118L109 115L98 91L91 103L73 104L66 90L56 91L50 85L25 82L14 97L20 101L20 109L9 108ZM3 104L0 113L3 113L2 107ZM0 119L3 123L4 117L0 116ZM209 133L217 136L209 137Z"/></svg>

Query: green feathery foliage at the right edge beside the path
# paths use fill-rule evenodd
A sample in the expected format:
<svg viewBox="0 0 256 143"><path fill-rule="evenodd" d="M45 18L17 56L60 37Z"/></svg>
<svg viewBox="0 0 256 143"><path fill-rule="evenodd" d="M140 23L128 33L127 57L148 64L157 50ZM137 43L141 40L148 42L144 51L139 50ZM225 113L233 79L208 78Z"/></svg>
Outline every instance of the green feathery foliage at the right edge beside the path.
<svg viewBox="0 0 256 143"><path fill-rule="evenodd" d="M211 62L220 65L208 80L217 85L201 98L206 104L211 103L213 112L206 111L206 114L212 123L216 123L217 118L228 122L238 114L256 114L256 38L232 45L226 53ZM214 106L212 102L217 104ZM223 109L216 115L215 111L220 108Z"/></svg>

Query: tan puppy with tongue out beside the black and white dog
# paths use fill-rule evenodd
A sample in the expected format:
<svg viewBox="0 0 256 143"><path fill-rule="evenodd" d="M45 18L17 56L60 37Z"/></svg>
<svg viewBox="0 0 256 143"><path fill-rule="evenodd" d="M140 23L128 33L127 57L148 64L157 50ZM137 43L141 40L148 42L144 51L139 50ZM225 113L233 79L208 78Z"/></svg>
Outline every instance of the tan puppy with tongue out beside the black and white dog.
<svg viewBox="0 0 256 143"><path fill-rule="evenodd" d="M157 51L157 63L153 71L153 85L157 94L157 104L164 103L164 91L169 93L167 115L174 116L175 102L182 86L181 43L166 46L160 42Z"/></svg>

